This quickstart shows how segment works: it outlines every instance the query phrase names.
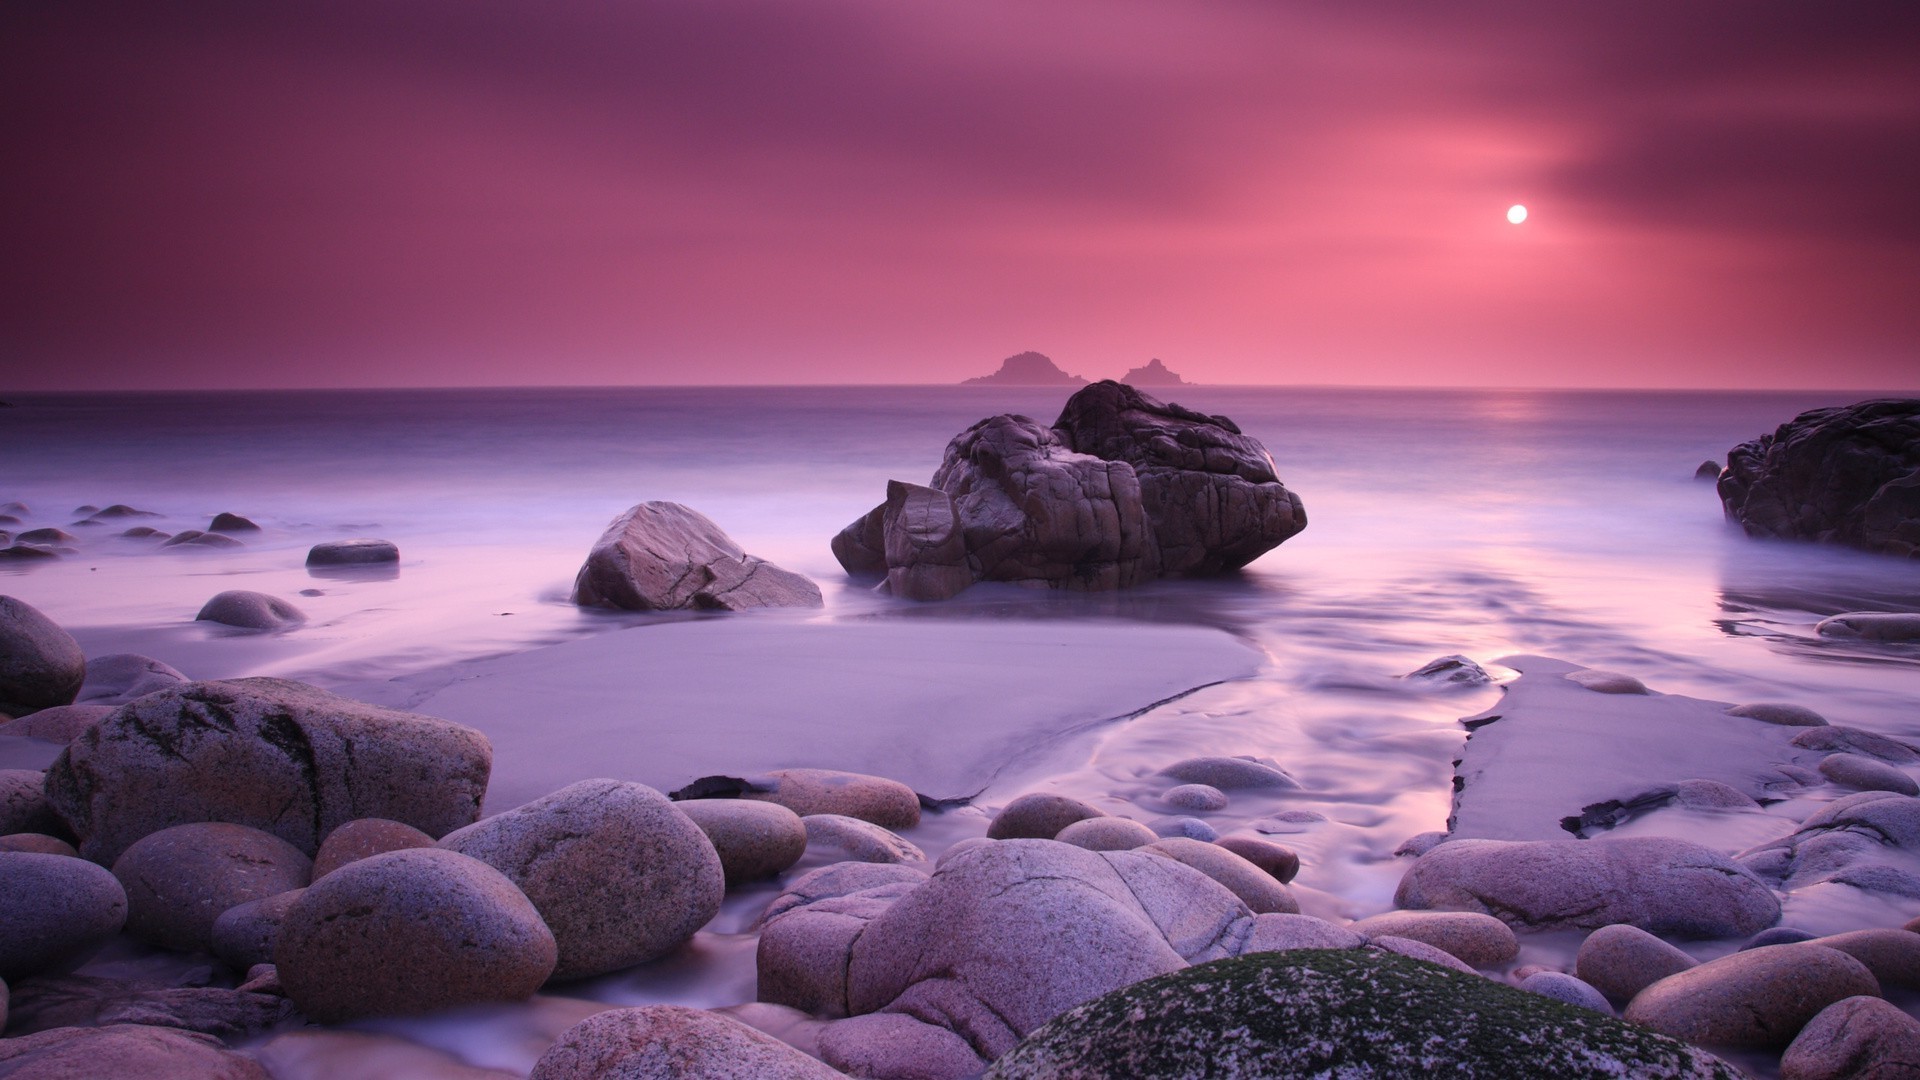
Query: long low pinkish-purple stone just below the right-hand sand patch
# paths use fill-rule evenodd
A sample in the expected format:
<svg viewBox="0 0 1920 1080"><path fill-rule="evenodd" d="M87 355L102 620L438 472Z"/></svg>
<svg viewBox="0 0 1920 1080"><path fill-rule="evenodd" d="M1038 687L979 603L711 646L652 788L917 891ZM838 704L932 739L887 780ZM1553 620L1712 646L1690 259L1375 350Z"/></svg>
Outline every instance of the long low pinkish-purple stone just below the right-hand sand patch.
<svg viewBox="0 0 1920 1080"><path fill-rule="evenodd" d="M1515 928L1628 922L1686 938L1743 938L1780 919L1753 871L1686 840L1452 840L1400 878L1404 909L1484 911Z"/></svg>

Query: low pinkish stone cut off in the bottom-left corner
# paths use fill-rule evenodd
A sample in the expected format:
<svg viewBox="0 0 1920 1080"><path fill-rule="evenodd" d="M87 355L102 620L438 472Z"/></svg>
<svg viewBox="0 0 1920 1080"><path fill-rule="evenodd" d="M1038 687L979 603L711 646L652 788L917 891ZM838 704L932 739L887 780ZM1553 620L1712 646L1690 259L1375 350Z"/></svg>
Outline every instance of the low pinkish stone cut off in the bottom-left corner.
<svg viewBox="0 0 1920 1080"><path fill-rule="evenodd" d="M146 1024L54 1028L0 1040L0 1078L19 1080L271 1080L221 1040Z"/></svg>

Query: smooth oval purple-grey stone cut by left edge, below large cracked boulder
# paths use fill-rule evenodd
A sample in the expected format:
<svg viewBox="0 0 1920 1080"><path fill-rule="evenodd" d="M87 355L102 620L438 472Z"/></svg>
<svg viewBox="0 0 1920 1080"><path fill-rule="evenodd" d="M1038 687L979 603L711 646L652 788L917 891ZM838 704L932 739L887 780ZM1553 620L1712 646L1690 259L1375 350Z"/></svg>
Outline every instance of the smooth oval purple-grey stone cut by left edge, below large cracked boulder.
<svg viewBox="0 0 1920 1080"><path fill-rule="evenodd" d="M106 867L0 851L0 978L79 963L127 924L127 890Z"/></svg>

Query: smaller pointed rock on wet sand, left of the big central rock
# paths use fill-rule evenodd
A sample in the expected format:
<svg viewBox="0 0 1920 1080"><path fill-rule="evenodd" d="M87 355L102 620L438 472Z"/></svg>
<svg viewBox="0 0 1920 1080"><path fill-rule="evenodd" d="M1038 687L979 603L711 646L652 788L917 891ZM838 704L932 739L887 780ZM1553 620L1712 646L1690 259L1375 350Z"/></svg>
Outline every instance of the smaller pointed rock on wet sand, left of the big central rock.
<svg viewBox="0 0 1920 1080"><path fill-rule="evenodd" d="M643 502L612 519L574 578L574 603L628 611L820 607L820 586L741 550L707 515Z"/></svg>

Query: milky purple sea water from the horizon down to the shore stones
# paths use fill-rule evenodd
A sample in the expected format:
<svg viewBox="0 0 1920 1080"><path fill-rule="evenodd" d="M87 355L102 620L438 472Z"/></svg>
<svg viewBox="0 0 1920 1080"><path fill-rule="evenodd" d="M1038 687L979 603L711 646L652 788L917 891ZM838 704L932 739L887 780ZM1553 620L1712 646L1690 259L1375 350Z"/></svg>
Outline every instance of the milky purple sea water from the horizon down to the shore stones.
<svg viewBox="0 0 1920 1080"><path fill-rule="evenodd" d="M1169 396L1261 438L1306 502L1308 530L1238 578L1102 596L979 586L941 605L845 580L828 538L879 502L889 477L925 482L947 438L972 421L1052 419L1064 390L495 390L17 398L21 407L0 411L0 502L29 503L29 527L65 527L79 503L121 502L161 511L161 528L205 527L230 509L265 532L244 550L186 553L69 527L79 553L6 567L0 592L52 615L92 655L140 651L190 676L346 686L649 621L578 611L566 588L611 517L676 500L749 552L820 580L828 607L804 619L1213 626L1265 655L1254 678L1050 744L1010 763L977 809L933 815L910 838L937 855L1039 788L1150 819L1169 813L1158 801L1165 784L1150 776L1162 765L1252 753L1304 790L1238 794L1208 821L1296 847L1302 903L1338 917L1392 907L1405 867L1394 847L1446 822L1459 717L1498 698L1396 678L1444 653L1553 655L1659 692L1795 701L1920 740L1920 648L1812 632L1837 611L1920 609L1920 563L1749 542L1722 523L1713 484L1692 479L1732 444L1859 394ZM396 540L397 575L301 567L309 544L357 534ZM286 634L194 625L225 588L284 596L311 621ZM564 738L563 721L555 736ZM1780 832L1805 813L1770 809ZM1766 838L1764 821L1668 815L1632 828L1724 849ZM751 919L770 896L730 899L724 926L685 957L572 992L749 999ZM1523 961L1551 961L1572 944L1534 942Z"/></svg>

